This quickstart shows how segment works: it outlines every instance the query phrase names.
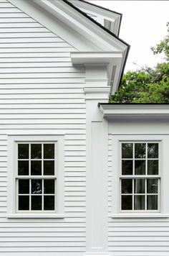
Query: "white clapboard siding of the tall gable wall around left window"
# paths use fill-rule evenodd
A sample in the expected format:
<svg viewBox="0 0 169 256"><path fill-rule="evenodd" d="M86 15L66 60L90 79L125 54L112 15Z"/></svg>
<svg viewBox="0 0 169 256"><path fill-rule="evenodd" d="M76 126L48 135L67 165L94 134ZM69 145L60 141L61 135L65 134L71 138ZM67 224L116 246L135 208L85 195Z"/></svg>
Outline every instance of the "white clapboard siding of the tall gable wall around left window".
<svg viewBox="0 0 169 256"><path fill-rule="evenodd" d="M0 0L0 255L84 255L86 109L77 51ZM6 134L65 134L64 219L6 219ZM72 254L71 254L72 253Z"/></svg>

